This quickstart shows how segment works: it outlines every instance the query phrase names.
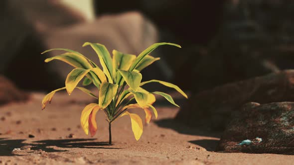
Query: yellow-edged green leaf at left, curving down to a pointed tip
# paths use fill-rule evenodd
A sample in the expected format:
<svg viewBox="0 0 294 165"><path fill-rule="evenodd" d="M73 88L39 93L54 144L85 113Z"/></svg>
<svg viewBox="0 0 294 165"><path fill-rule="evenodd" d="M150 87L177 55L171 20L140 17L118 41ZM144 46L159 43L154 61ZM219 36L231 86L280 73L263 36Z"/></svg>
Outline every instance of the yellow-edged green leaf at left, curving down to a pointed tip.
<svg viewBox="0 0 294 165"><path fill-rule="evenodd" d="M67 93L70 95L77 84L90 72L91 69L85 70L82 68L73 69L65 80Z"/></svg>

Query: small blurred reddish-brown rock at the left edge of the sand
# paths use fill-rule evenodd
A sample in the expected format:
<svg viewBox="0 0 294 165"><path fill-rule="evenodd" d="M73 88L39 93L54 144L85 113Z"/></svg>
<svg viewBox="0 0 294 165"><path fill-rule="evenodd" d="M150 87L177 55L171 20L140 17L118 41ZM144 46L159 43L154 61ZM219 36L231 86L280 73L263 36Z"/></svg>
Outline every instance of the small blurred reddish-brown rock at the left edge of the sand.
<svg viewBox="0 0 294 165"><path fill-rule="evenodd" d="M19 90L12 82L0 75L0 105L28 99L28 93Z"/></svg>

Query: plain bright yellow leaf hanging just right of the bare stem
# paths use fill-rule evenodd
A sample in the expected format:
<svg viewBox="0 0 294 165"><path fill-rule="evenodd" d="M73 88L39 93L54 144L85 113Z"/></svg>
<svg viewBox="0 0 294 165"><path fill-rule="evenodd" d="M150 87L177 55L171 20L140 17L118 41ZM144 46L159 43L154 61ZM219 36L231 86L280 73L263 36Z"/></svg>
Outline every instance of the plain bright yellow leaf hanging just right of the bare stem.
<svg viewBox="0 0 294 165"><path fill-rule="evenodd" d="M126 111L123 113L121 116L129 115L131 118L131 123L132 123L132 130L135 135L135 139L138 141L141 138L141 135L143 133L143 123L142 119L140 118L139 115L135 113L130 113Z"/></svg>

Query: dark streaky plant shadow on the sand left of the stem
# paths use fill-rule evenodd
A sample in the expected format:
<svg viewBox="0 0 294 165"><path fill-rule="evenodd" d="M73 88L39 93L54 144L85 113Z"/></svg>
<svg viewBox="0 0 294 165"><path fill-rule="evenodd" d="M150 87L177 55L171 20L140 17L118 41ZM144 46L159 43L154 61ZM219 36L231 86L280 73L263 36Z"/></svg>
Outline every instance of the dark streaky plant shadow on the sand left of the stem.
<svg viewBox="0 0 294 165"><path fill-rule="evenodd" d="M96 139L60 139L60 140L40 140L34 141L32 144L23 143L25 139L9 140L7 138L0 139L0 156L19 156L13 153L14 148L21 148L26 145L32 146L30 150L42 150L48 153L66 152L63 148L84 148L84 149L120 149L111 148L108 142L93 142ZM90 142L89 142L90 141ZM103 147L105 146L105 147ZM108 146L108 147L107 147ZM61 150L52 147L62 148Z"/></svg>

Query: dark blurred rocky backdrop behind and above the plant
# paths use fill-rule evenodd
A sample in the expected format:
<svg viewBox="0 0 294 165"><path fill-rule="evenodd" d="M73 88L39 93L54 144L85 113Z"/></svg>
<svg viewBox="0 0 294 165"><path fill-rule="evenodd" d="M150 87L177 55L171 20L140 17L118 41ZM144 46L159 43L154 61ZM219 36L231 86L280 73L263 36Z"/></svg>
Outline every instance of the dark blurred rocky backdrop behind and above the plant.
<svg viewBox="0 0 294 165"><path fill-rule="evenodd" d="M64 86L72 69L40 55L79 51L86 41L138 55L172 42L144 79L171 81L197 93L217 85L293 68L292 0L1 0L0 74L23 90ZM5 86L5 85L3 85Z"/></svg>

